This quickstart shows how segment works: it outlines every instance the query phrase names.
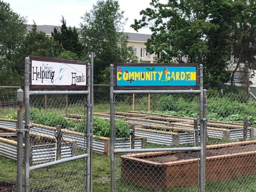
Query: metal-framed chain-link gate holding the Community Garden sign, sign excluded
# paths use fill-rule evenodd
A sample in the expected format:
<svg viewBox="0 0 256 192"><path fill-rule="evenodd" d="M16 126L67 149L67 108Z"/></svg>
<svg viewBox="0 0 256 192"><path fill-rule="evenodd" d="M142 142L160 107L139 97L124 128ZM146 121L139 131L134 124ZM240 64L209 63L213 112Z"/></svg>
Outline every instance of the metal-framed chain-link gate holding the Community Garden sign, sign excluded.
<svg viewBox="0 0 256 192"><path fill-rule="evenodd" d="M110 65L111 192L204 192L205 161L200 159L205 159L207 94L202 65L199 90L114 90L114 70ZM177 100L183 105L175 105ZM185 109L191 102L194 109ZM167 109L194 110L195 118L157 112ZM125 123L130 131L123 129Z"/></svg>

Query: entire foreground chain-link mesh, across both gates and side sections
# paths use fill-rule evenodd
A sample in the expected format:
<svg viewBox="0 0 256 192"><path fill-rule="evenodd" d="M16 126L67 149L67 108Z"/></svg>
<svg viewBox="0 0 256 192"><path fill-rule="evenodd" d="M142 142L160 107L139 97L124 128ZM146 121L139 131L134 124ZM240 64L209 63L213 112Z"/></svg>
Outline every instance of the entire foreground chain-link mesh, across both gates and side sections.
<svg viewBox="0 0 256 192"><path fill-rule="evenodd" d="M17 134L17 94L0 92L0 191L16 191L17 146L10 150L6 141L14 143ZM84 154L85 97L30 97L31 166ZM200 146L197 95L119 94L114 101L115 149ZM254 97L242 90L209 90L207 105L206 191L255 191ZM98 125L94 126L93 191L109 191L110 141L104 140L110 134L105 126L110 118L109 86L94 86L94 111ZM197 151L118 154L115 191L200 191L199 157ZM78 159L30 171L30 191L83 191L84 163Z"/></svg>

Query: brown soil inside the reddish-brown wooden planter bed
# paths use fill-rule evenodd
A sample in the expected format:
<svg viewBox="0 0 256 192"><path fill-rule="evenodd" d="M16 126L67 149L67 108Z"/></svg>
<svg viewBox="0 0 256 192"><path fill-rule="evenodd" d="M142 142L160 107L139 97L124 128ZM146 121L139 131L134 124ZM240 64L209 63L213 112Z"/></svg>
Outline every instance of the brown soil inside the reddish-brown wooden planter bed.
<svg viewBox="0 0 256 192"><path fill-rule="evenodd" d="M207 149L206 157L212 157L217 155L227 155L227 154L234 154L234 153L243 153L243 152L249 152L249 151L256 151L256 144ZM166 155L154 155L154 156L140 157L140 158L145 159L147 161L166 163L171 161L194 159L198 157L200 157L200 152L189 151L189 152L179 152L179 153L166 154Z"/></svg>

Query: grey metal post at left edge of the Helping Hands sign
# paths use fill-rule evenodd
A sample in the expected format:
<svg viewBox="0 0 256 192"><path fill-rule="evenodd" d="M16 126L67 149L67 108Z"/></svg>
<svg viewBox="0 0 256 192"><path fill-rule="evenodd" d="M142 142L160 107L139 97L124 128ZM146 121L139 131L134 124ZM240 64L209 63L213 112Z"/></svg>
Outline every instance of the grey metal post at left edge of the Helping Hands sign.
<svg viewBox="0 0 256 192"><path fill-rule="evenodd" d="M29 192L29 128L30 128L30 120L29 120L29 57L25 58L25 192Z"/></svg>

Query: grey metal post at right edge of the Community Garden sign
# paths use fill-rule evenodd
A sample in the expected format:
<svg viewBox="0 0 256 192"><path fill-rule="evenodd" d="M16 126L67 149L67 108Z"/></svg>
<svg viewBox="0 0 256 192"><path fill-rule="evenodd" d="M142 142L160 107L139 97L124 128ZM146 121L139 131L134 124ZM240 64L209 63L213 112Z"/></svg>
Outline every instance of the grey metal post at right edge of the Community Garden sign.
<svg viewBox="0 0 256 192"><path fill-rule="evenodd" d="M203 119L203 65L199 65L199 90L200 93L200 187L205 192L205 154L204 154L204 119Z"/></svg>

